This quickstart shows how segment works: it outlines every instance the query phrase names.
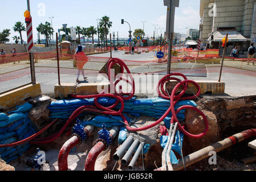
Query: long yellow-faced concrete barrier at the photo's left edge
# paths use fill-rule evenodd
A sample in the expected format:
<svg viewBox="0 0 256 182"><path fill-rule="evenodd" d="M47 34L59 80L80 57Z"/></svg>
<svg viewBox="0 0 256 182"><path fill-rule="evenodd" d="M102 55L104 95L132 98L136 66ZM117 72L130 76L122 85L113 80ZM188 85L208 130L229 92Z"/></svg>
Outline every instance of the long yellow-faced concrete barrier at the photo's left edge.
<svg viewBox="0 0 256 182"><path fill-rule="evenodd" d="M21 88L0 95L0 108L4 110L23 104L26 99L38 97L42 94L40 84L26 85Z"/></svg>

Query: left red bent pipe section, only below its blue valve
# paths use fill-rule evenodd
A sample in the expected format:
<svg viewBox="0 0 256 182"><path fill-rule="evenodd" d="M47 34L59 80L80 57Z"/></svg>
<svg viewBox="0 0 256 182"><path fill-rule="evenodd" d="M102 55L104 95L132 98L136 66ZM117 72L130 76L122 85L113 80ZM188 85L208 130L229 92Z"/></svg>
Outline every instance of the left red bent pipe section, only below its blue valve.
<svg viewBox="0 0 256 182"><path fill-rule="evenodd" d="M67 140L60 148L59 151L59 156L58 156L58 166L59 166L59 171L67 171L68 169L68 163L67 163L67 158L68 154L70 154L70 150L75 147L78 143L80 142L79 138L74 136Z"/></svg>

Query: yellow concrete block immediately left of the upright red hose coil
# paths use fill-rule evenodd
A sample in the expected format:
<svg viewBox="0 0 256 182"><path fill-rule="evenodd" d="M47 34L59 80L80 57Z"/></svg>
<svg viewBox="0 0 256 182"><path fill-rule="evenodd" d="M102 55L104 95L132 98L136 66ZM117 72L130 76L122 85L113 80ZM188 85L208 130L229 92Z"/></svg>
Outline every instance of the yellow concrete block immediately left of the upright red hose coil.
<svg viewBox="0 0 256 182"><path fill-rule="evenodd" d="M78 86L76 86L75 93L79 96L98 94L98 89L104 90L109 86L109 82L78 84Z"/></svg>

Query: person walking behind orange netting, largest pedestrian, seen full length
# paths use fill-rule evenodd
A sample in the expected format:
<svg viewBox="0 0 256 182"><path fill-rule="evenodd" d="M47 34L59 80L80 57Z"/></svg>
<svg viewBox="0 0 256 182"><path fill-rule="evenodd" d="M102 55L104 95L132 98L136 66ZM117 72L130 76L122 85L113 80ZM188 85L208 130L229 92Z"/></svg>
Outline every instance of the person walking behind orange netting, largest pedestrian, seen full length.
<svg viewBox="0 0 256 182"><path fill-rule="evenodd" d="M75 61L76 61L76 67L78 68L78 76L76 77L76 82L80 82L79 76L81 72L84 80L87 79L87 77L84 75L84 70L83 70L84 64L88 62L88 57L83 52L83 49L85 48L86 48L85 46L81 46L81 45L79 45L78 48L76 48Z"/></svg>

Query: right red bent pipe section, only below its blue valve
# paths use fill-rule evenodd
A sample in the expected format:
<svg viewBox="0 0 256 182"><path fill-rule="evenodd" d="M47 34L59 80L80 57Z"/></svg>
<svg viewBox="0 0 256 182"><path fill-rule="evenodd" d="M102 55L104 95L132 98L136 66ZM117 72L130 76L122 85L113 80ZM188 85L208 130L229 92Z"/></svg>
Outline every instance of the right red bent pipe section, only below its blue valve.
<svg viewBox="0 0 256 182"><path fill-rule="evenodd" d="M94 147L90 150L87 155L86 163L84 164L84 171L94 171L95 162L97 156L105 149L105 144L103 142L97 142Z"/></svg>

